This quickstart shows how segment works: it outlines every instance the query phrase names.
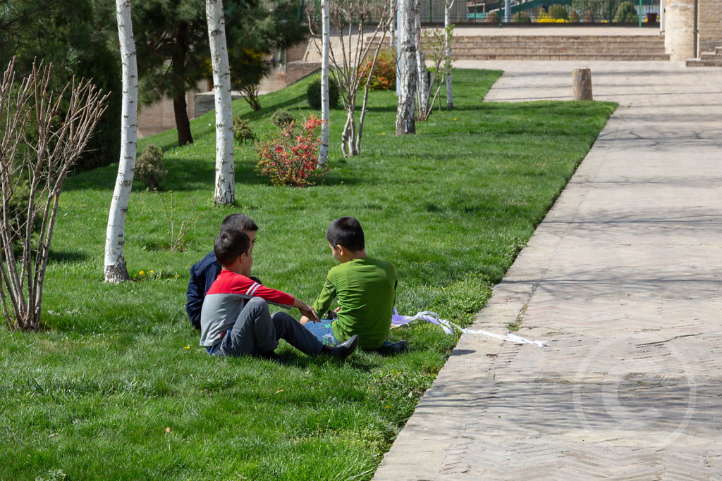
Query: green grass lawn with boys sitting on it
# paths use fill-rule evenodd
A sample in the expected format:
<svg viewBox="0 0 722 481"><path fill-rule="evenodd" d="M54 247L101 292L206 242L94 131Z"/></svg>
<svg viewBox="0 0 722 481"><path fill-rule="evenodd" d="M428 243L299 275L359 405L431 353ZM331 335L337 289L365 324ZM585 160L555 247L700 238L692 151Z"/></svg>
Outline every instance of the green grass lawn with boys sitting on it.
<svg viewBox="0 0 722 481"><path fill-rule="evenodd" d="M71 177L61 196L43 297L45 329L0 328L0 479L369 479L443 366L455 336L433 325L393 331L408 352L345 363L282 345L279 366L199 348L185 314L188 269L212 250L220 221L246 213L260 231L253 273L309 303L335 261L326 227L355 216L372 257L399 272L401 314L430 309L468 325L586 155L614 105L484 103L500 75L454 73L452 112L393 135L396 97L373 92L362 156L340 156L344 112L331 115L328 174L316 187L271 187L251 146L236 149L238 206L212 205L212 113L143 139L165 150L163 191L136 182L126 226L134 280L103 282L117 164ZM308 112L308 80L243 112L260 134L284 107ZM186 250L168 250L160 200L175 221L200 216ZM144 275L139 275L143 270ZM297 311L292 312L298 316Z"/></svg>

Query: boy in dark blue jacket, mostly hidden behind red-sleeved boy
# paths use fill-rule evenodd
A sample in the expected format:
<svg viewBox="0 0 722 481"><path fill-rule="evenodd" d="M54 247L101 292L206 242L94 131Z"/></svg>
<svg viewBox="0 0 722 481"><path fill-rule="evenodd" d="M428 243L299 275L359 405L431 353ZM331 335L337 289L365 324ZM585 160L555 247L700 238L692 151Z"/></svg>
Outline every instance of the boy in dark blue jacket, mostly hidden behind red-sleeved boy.
<svg viewBox="0 0 722 481"><path fill-rule="evenodd" d="M230 216L223 219L220 231L229 229L245 232L251 239L251 252L253 252L253 244L256 243L258 226L250 217L243 216L240 213L230 214ZM208 289L211 288L211 284L216 280L220 272L221 266L216 260L216 255L213 251L209 252L206 257L199 260L199 262L196 262L191 268L191 280L188 281L188 292L186 294L186 312L188 312L188 320L194 329L201 328L201 308L203 307L203 300L206 298ZM259 284L261 283L261 281L258 281L256 278L252 279Z"/></svg>

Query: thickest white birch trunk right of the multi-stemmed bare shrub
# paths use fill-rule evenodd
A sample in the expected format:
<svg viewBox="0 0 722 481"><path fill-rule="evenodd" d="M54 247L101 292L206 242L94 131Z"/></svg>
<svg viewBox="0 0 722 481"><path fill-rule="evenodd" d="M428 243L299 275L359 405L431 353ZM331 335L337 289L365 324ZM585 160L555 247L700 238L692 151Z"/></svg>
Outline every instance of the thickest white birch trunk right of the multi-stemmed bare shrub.
<svg viewBox="0 0 722 481"><path fill-rule="evenodd" d="M414 0L399 0L399 107L396 109L396 135L416 133L414 97L416 96L416 41L414 39Z"/></svg>

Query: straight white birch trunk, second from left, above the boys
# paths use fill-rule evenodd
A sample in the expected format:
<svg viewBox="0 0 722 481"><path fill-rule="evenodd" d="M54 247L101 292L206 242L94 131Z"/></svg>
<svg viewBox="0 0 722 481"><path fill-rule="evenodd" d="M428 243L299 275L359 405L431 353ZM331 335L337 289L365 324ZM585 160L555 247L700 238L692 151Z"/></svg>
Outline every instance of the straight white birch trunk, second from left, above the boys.
<svg viewBox="0 0 722 481"><path fill-rule="evenodd" d="M213 67L213 92L216 106L216 189L217 206L235 200L233 162L233 112L230 97L230 66L225 40L222 0L206 0L206 22Z"/></svg>

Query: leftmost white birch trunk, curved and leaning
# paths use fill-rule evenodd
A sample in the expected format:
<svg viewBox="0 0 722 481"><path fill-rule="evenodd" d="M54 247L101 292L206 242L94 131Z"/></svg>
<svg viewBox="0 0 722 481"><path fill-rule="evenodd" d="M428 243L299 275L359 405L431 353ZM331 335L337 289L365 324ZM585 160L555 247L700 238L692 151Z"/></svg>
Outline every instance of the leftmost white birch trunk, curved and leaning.
<svg viewBox="0 0 722 481"><path fill-rule="evenodd" d="M129 279L123 245L138 139L138 66L131 22L131 0L116 0L116 19L123 63L121 159L105 233L105 281L113 283Z"/></svg>

